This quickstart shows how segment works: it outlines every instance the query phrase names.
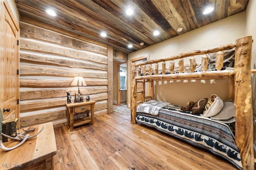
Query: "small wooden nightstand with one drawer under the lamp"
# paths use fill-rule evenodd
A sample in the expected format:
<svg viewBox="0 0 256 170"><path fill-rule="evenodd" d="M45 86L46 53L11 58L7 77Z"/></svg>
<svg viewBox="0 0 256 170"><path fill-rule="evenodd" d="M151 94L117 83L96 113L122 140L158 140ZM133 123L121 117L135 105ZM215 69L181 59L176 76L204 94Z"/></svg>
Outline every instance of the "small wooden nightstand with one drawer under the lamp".
<svg viewBox="0 0 256 170"><path fill-rule="evenodd" d="M67 108L67 117L68 117L68 125L70 127L70 132L74 130L74 126L83 125L85 123L94 124L94 106L95 101L90 100L88 102L78 102L78 103L65 103ZM91 112L91 116L89 117L89 111ZM78 113L87 112L87 117L79 118L74 121L74 115Z"/></svg>

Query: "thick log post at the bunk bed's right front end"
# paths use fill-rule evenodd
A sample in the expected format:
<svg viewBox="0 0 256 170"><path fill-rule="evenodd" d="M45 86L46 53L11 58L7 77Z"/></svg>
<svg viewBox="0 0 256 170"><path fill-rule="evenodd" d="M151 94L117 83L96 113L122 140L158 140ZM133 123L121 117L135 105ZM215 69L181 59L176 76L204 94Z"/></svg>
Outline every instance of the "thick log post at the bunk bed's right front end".
<svg viewBox="0 0 256 170"><path fill-rule="evenodd" d="M235 55L235 140L240 150L243 169L254 169L251 82L252 36L236 39Z"/></svg>

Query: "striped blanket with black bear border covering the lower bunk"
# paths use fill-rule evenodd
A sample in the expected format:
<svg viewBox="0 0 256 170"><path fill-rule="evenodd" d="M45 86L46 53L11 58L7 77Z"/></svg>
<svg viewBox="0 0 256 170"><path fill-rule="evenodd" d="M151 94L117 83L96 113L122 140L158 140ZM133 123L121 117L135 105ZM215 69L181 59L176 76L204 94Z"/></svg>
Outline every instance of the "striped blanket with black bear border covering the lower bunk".
<svg viewBox="0 0 256 170"><path fill-rule="evenodd" d="M177 105L162 107L158 115L137 112L136 121L210 150L238 169L242 169L240 152L234 135L226 123L181 111L180 106Z"/></svg>

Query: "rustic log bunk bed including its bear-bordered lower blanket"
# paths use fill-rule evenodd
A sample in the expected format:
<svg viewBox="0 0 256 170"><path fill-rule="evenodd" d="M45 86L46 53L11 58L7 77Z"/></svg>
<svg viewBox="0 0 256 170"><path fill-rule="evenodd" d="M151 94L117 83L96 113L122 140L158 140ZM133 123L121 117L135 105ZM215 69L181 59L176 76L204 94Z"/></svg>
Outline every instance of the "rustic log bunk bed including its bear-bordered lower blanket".
<svg viewBox="0 0 256 170"><path fill-rule="evenodd" d="M136 124L140 122L142 124L155 127L156 129L168 133L169 135L183 139L193 145L206 148L212 153L222 156L238 169L254 169L254 149L253 149L253 116L252 116L252 86L251 86L251 73L256 73L256 70L251 70L251 57L252 57L252 36L245 36L239 39L236 39L235 43L230 43L227 45L221 45L218 47L212 47L208 49L190 51L186 53L180 53L171 57L165 57L160 59L154 59L149 61L144 61L141 63L132 63L131 65L131 123ZM220 70L223 66L223 60L218 61L216 59L216 69L213 71L208 71L208 57L206 54L217 53L217 55L222 55L222 51L235 48L235 63L234 69ZM195 59L193 56L202 55L202 70L199 72L194 72L196 68ZM190 57L190 71L189 72L175 72L174 71L174 60L179 60L178 70L184 70L184 57ZM166 74L166 61L170 61L169 73ZM153 64L153 65L152 65ZM158 64L162 64L162 74L158 74ZM155 66L155 69L152 68ZM219 68L220 67L220 68ZM146 69L147 68L147 69ZM138 113L138 105L142 102L136 100L137 97L137 82L142 82L142 101L148 102L148 100L154 100L154 81L166 81L166 80L216 80L216 79L228 79L228 98L232 99L235 108L235 137L230 135L230 128L226 123L218 124L218 121L213 121L218 124L216 127L220 127L219 132L222 134L222 138L228 138L227 143L223 142L223 139L218 137L211 136L212 139L206 138L203 136L198 129L193 130L191 127L193 123L189 121L196 121L197 123L201 122L211 122L211 119L208 117L202 117L192 114L181 114L181 117L191 117L187 118L186 123L190 123L187 126L179 126L180 124L186 123L177 123L175 122L176 117L170 119L174 121L167 120L163 118L164 116L154 116L147 115L146 113ZM152 87L150 90L150 96L145 95L145 82L149 82ZM170 101L167 101L170 102ZM166 112L169 107L164 107L162 112ZM159 111L159 114L161 109ZM168 113L169 115L179 116L178 113ZM167 117L168 117L167 116ZM188 120L189 119L189 120ZM198 120L200 119L200 120ZM202 121L203 120L203 121ZM180 121L180 120L178 120ZM172 124L173 123L173 124ZM200 124L201 125L201 124ZM198 126L200 126L198 125ZM204 126L204 124L202 124ZM186 127L188 127L186 129ZM208 127L208 125L207 125ZM211 127L210 127L211 128ZM227 131L227 129L229 129ZM182 131L180 133L179 131ZM185 134L185 133L186 134ZM179 135L178 135L179 134ZM184 135L185 134L185 135ZM192 137L190 137L192 136ZM196 139L197 136L197 139ZM194 138L193 138L194 137ZM221 138L220 137L220 138ZM193 138L193 139L190 139ZM232 138L232 139L231 139ZM201 140L199 140L201 139ZM212 140L212 145L218 145L219 148L214 149L210 148L207 143L207 139ZM226 139L224 139L226 140ZM218 142L217 142L218 141ZM233 144L232 144L233 141ZM206 142L206 143L204 143ZM215 142L215 143L214 143ZM202 145L202 143L204 145ZM225 144L224 144L225 143ZM231 155L231 156L230 156ZM232 158L230 158L232 157Z"/></svg>

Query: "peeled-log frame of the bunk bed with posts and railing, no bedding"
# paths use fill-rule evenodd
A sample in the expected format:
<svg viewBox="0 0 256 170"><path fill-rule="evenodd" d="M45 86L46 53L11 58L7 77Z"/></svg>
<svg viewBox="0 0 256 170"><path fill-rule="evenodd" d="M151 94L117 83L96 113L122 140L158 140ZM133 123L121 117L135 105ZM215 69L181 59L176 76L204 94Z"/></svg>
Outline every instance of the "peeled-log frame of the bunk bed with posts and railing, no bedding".
<svg viewBox="0 0 256 170"><path fill-rule="evenodd" d="M131 123L136 124L136 107L137 107L137 82L150 82L150 86L154 87L154 81L162 80L216 80L228 79L229 93L228 97L232 98L235 106L236 117L236 145L240 150L243 169L254 169L254 150L253 150L253 117L252 117L252 82L251 73L256 73L256 70L251 70L252 57L252 36L245 36L236 39L236 43L221 45L208 49L190 51L180 53L178 55L164 57L144 61L141 63L132 63L131 68ZM235 50L234 70L220 70L223 67L222 51L233 49ZM218 52L216 54L216 71L207 71L209 53ZM196 62L194 56L202 55L202 71L194 72ZM218 56L218 57L217 57ZM190 72L184 72L184 57L190 57ZM219 59L220 57L220 59ZM180 59L178 73L174 73L174 61ZM170 67L166 74L166 61L170 61ZM158 74L158 63L162 63L162 74ZM148 68L146 69L146 64ZM154 64L155 69L152 68ZM184 72L184 73L183 73ZM153 75L152 75L153 74ZM144 85L145 86L145 85ZM144 87L143 86L143 87ZM154 89L154 88L152 88ZM143 89L142 89L143 90ZM145 92L145 90L144 90ZM154 99L154 91L151 91L151 98L143 96L144 102L146 99Z"/></svg>

